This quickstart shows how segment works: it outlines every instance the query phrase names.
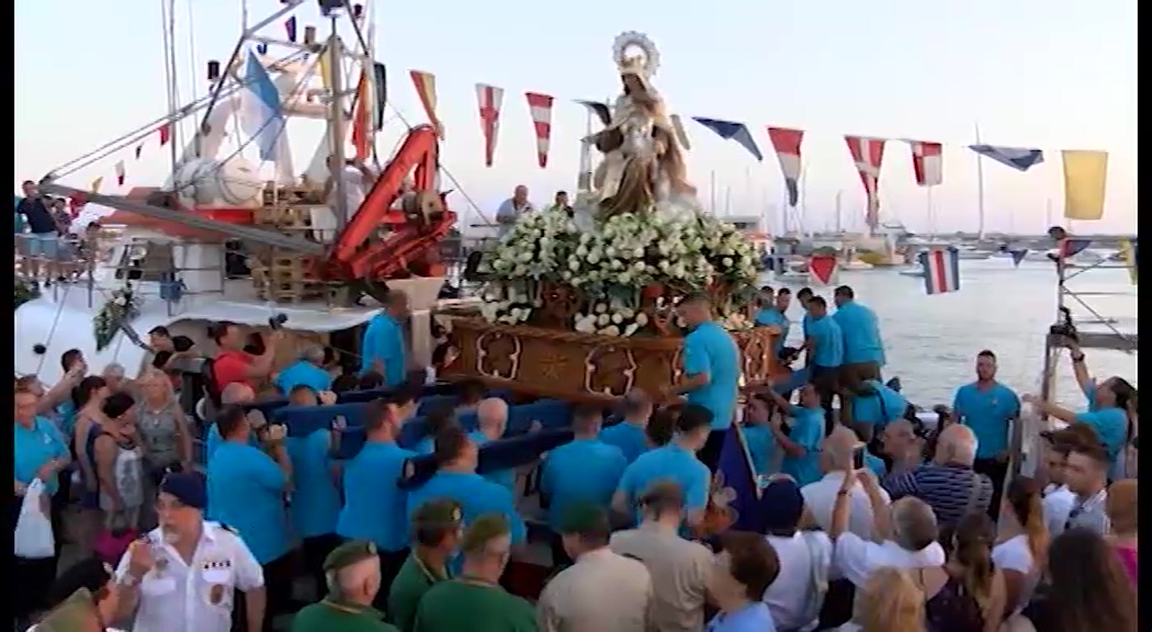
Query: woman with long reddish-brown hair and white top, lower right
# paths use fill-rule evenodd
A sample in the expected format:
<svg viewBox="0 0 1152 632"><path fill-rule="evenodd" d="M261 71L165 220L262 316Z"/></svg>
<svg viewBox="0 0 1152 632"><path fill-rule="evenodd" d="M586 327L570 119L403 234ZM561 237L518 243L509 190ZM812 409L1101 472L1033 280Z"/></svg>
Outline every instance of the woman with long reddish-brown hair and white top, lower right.
<svg viewBox="0 0 1152 632"><path fill-rule="evenodd" d="M1031 599L1047 554L1048 527L1044 524L1040 483L1016 477L1005 489L999 543L992 549L992 561L1005 576L1006 615L1023 608Z"/></svg>

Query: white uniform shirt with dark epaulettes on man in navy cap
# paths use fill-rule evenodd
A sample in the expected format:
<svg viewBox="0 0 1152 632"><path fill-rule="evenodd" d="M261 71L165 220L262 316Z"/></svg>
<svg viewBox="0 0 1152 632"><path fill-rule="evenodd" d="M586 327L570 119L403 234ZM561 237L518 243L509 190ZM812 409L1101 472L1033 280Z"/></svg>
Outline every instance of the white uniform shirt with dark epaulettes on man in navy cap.
<svg viewBox="0 0 1152 632"><path fill-rule="evenodd" d="M191 564L164 542L160 528L145 536L156 565L139 582L134 632L226 632L232 627L235 591L264 586L264 570L240 535L218 523L204 523ZM130 553L116 568L128 574Z"/></svg>

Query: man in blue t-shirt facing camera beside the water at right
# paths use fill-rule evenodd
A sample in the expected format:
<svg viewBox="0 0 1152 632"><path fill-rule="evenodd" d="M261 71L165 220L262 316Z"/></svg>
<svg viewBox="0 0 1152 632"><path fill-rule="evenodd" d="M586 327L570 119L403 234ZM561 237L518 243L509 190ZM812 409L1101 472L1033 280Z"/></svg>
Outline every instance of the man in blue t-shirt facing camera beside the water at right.
<svg viewBox="0 0 1152 632"><path fill-rule="evenodd" d="M994 520L1008 475L1009 432L1020 417L1020 397L996 381L995 353L985 349L976 355L976 381L956 389L952 411L976 435L972 470L992 479L988 516Z"/></svg>

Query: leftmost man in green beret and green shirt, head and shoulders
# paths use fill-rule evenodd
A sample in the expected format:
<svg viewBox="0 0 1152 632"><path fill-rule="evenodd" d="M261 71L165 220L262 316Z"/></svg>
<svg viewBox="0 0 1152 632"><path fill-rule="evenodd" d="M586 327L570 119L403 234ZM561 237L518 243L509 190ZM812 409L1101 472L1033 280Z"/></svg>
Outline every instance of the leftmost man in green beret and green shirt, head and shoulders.
<svg viewBox="0 0 1152 632"><path fill-rule="evenodd" d="M324 559L328 596L293 618L293 632L397 632L384 623L384 612L372 608L380 589L380 558L376 545L353 540Z"/></svg>

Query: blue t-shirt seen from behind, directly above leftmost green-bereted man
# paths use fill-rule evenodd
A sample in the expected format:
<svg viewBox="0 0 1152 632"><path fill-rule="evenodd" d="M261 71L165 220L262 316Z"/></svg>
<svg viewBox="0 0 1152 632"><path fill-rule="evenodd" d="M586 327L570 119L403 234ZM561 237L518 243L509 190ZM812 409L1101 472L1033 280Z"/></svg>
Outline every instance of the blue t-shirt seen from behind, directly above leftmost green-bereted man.
<svg viewBox="0 0 1152 632"><path fill-rule="evenodd" d="M369 441L344 464L344 507L336 533L371 540L381 550L408 546L408 493L400 488L404 462L416 456L395 443Z"/></svg>

